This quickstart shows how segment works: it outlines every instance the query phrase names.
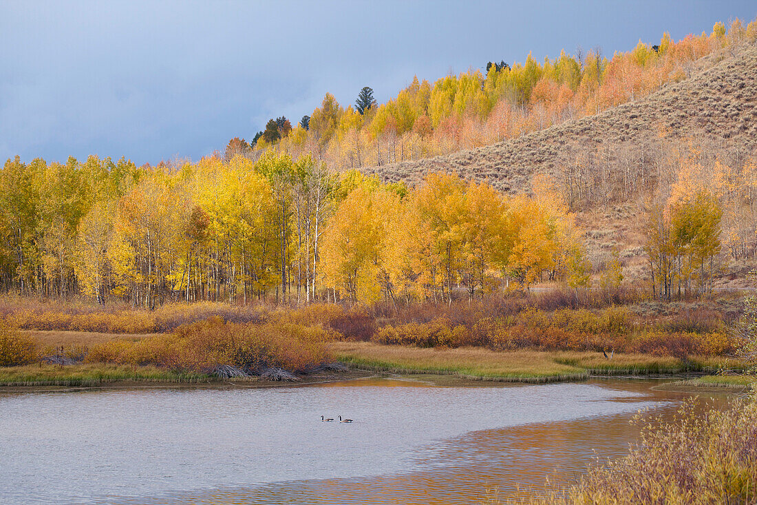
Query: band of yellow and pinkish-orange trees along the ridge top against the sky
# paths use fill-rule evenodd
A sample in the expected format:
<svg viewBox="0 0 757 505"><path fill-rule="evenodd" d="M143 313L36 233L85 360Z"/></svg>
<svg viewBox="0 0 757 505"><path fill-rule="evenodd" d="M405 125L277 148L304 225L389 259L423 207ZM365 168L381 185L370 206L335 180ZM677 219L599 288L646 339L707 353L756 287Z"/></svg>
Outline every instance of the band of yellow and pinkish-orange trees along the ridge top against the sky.
<svg viewBox="0 0 757 505"><path fill-rule="evenodd" d="M355 106L340 105L327 93L294 128L283 116L271 119L249 142L229 141L226 154L308 153L339 171L445 155L639 99L690 77L708 64L705 57L755 39L757 21L745 27L734 20L728 29L717 23L711 33L678 42L665 33L658 44L639 41L609 58L599 48L579 48L575 55L562 51L543 62L528 55L523 63L489 63L484 71L450 74L434 83L414 77L381 105L365 96L366 88Z"/></svg>

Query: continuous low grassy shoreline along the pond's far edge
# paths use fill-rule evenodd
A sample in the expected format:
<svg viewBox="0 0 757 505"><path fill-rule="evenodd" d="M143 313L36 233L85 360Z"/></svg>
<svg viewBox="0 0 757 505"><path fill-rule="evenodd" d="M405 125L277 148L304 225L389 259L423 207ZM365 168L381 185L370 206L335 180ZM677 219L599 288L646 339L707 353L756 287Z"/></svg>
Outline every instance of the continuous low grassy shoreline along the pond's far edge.
<svg viewBox="0 0 757 505"><path fill-rule="evenodd" d="M731 384L734 391L753 386L749 378L713 375L724 365L738 363L721 357L615 354L588 351L507 350L482 347L425 348L388 346L370 342L329 343L332 356L347 370L298 375L298 381L269 381L258 377L217 378L195 372L175 372L154 365L81 363L76 365L23 365L0 368L0 393L26 391L92 391L125 389L259 389L307 386L360 378L400 377L437 386L491 386L495 384L550 384L602 379L659 379L669 391L696 393Z"/></svg>

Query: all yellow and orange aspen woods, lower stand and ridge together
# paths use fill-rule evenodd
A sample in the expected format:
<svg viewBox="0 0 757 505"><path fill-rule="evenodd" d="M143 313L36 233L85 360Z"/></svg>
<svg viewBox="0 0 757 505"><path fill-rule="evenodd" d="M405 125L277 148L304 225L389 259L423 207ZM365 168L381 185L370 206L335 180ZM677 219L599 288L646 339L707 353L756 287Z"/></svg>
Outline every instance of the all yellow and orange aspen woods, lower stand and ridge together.
<svg viewBox="0 0 757 505"><path fill-rule="evenodd" d="M491 143L567 121L681 80L716 51L757 35L757 22L628 53L489 64L433 86L413 84L357 108L327 95L291 128L269 121L198 162L155 166L91 155L0 171L0 285L11 293L154 309L199 300L450 303L555 281L617 290L621 251L597 261L575 211L635 199L645 284L662 300L712 290L720 259L755 253L757 163L703 139L607 152L565 149L553 174L510 194L433 171L383 183L368 164ZM702 63L704 61L705 63ZM271 130L271 131L269 131ZM606 159L605 159L606 158ZM625 160L625 161L624 161ZM613 165L614 166L614 165ZM615 167L617 168L617 167ZM633 281L639 279L634 278Z"/></svg>

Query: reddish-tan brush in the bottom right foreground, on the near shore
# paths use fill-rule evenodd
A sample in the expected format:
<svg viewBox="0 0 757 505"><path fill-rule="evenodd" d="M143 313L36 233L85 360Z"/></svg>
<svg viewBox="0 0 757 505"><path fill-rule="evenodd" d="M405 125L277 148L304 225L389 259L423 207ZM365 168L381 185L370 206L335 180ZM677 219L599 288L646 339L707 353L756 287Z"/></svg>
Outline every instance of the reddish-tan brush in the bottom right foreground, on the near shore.
<svg viewBox="0 0 757 505"><path fill-rule="evenodd" d="M628 456L538 503L757 503L757 397L647 425Z"/></svg>

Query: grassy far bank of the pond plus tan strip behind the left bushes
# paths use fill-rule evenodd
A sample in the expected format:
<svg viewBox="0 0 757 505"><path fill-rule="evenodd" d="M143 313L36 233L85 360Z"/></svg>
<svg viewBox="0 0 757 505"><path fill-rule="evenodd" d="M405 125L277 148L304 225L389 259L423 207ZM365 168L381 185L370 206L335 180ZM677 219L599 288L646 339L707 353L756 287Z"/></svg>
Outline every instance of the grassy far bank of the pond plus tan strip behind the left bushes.
<svg viewBox="0 0 757 505"><path fill-rule="evenodd" d="M107 334L85 331L26 331L45 345L88 347L112 341L138 341L155 334ZM335 341L326 344L329 356L348 365L348 372L323 371L300 374L298 381L263 381L257 377L223 379L198 372L173 372L153 365L118 365L95 362L75 365L35 363L0 367L0 391L9 388L39 387L272 387L288 384L312 384L341 381L366 375L427 375L432 381L457 384L459 381L501 381L547 383L584 381L592 376L646 376L713 374L721 367L739 369L739 364L724 357L673 356L650 354L603 353L590 351L509 350L494 351L484 347L435 347L383 345L372 342ZM441 379L447 377L447 379ZM737 377L711 375L685 381L675 387L721 387Z"/></svg>

